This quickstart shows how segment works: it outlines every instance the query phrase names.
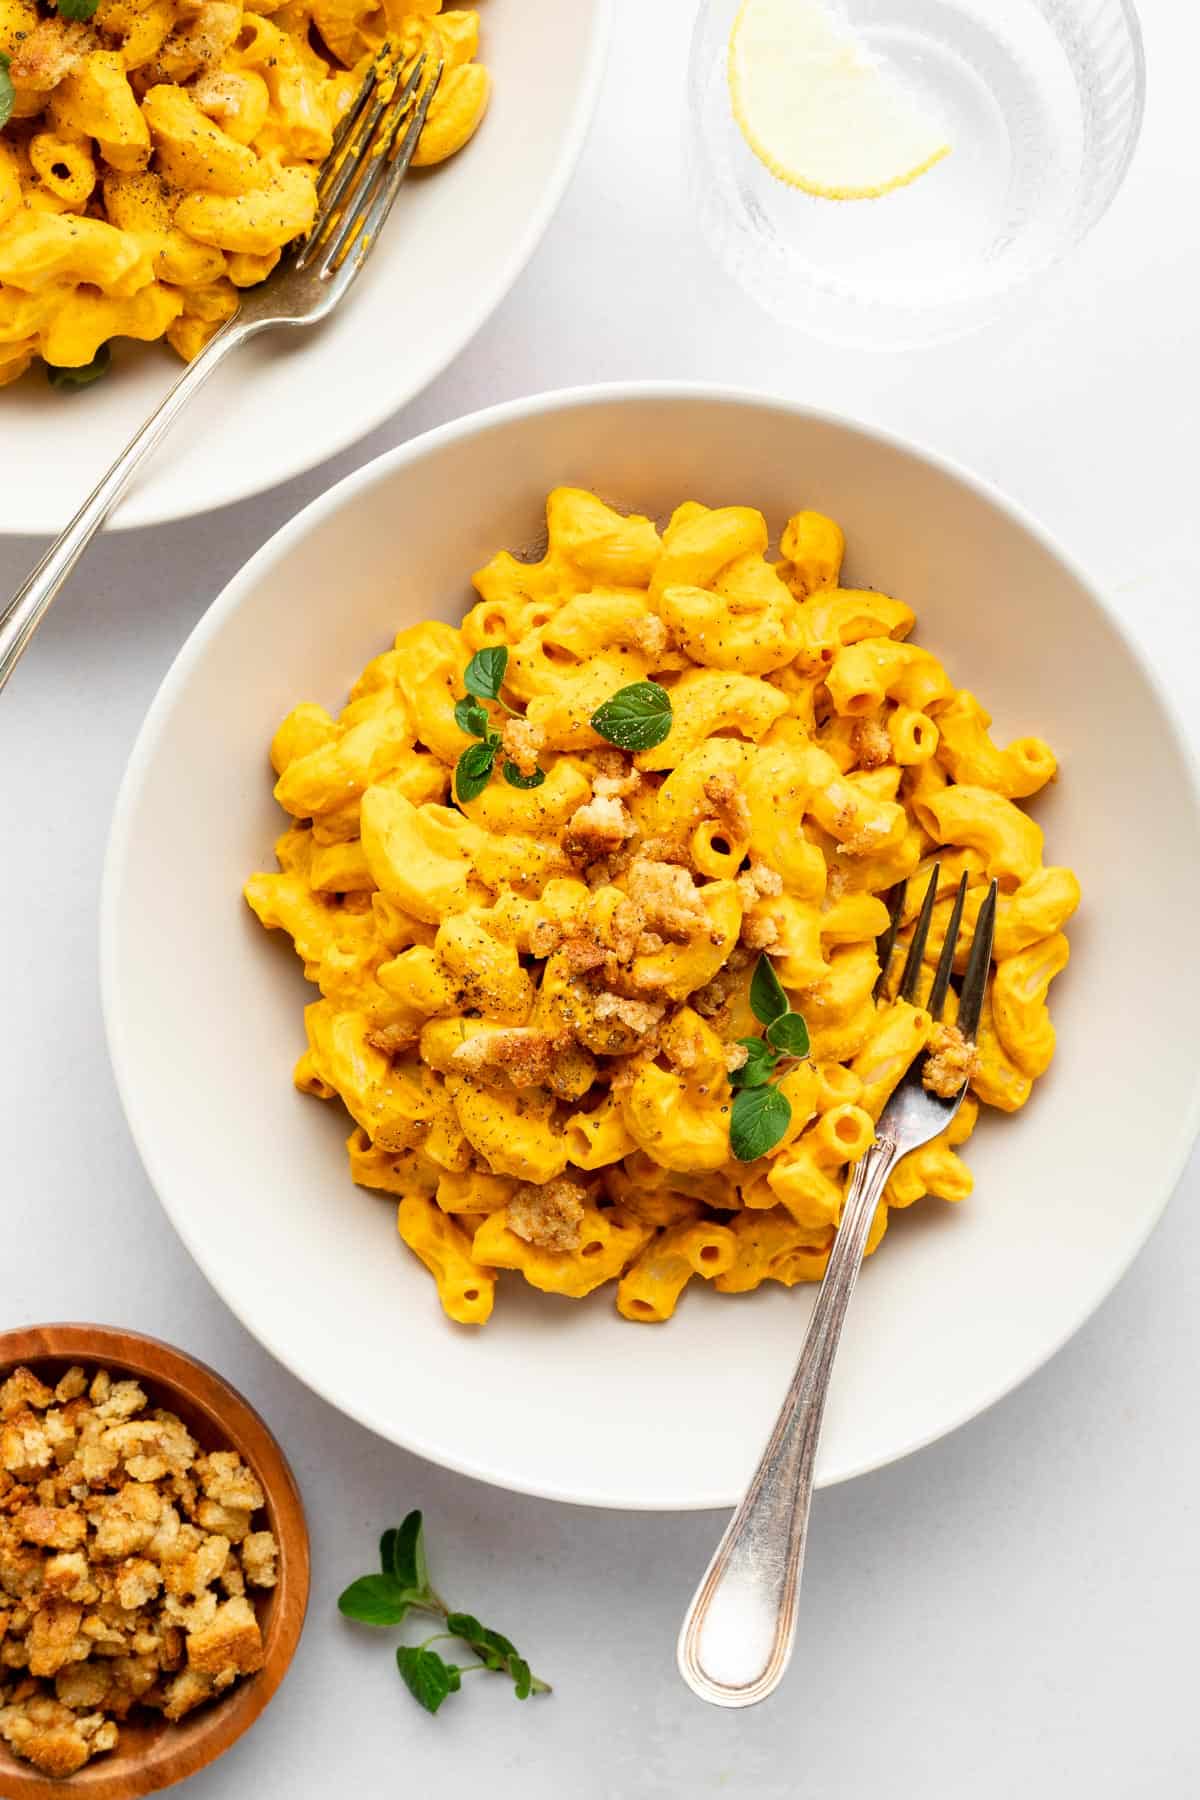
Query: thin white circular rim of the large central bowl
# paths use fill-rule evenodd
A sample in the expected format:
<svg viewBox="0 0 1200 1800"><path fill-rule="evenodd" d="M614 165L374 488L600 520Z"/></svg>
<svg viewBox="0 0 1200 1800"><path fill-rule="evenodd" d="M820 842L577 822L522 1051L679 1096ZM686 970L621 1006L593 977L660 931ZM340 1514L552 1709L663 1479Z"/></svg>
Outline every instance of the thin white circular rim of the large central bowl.
<svg viewBox="0 0 1200 1800"><path fill-rule="evenodd" d="M236 1318L245 1325L252 1337L257 1339L284 1368L288 1368L306 1388L317 1393L322 1400L327 1400L338 1411L354 1418L360 1426L374 1431L376 1436L389 1444L396 1444L401 1449L412 1451L423 1456L426 1462L437 1463L443 1469L450 1469L455 1474L471 1476L477 1481L486 1481L493 1487L507 1489L509 1492L529 1494L538 1499L556 1499L570 1505L581 1507L604 1507L612 1510L626 1512L694 1512L714 1507L732 1507L741 1498L739 1492L716 1492L702 1494L693 1498L660 1498L653 1501L646 1499L628 1499L613 1496L604 1490L579 1490L569 1487L558 1487L545 1481L522 1481L507 1471L497 1471L486 1463L475 1462L468 1454L457 1454L446 1447L430 1442L423 1435L407 1435L396 1429L389 1420L380 1418L372 1408L362 1404L347 1404L345 1399L333 1391L333 1386L326 1381L320 1368L308 1366L302 1352L284 1350L270 1332L261 1332L255 1323L245 1318L237 1307L232 1303L225 1292L219 1278L214 1274L205 1255L198 1249L189 1220L182 1217L167 1199L169 1183L160 1179L164 1172L158 1168L155 1154L149 1150L149 1134L144 1129L140 1107L137 1100L137 1082L133 1075L131 1062L126 1057L126 1046L121 1031L121 1008L117 997L117 914L121 904L121 878L122 869L128 860L128 850L133 835L135 814L140 801L142 787L146 781L146 772L149 770L158 740L167 727L169 715L175 707L176 697L187 686L194 664L203 657L209 641L216 637L225 621L248 599L264 572L293 553L293 549L308 536L311 529L320 526L331 515L340 511L347 502L351 502L358 493L390 479L394 473L403 470L408 463L416 463L432 452L439 452L461 439L473 437L479 432L502 428L506 425L522 423L531 418L551 416L556 412L565 412L572 409L587 407L606 407L606 405L628 405L637 407L644 403L660 401L705 401L716 407L757 407L770 412L781 412L797 421L810 421L822 427L833 427L837 430L849 430L864 439L876 445L883 445L889 450L898 452L903 457L916 459L936 470L937 473L948 477L959 486L966 488L977 499L984 500L988 506L1004 515L1020 531L1031 536L1038 547L1052 558L1079 587L1085 589L1097 610L1106 617L1112 630L1119 637L1124 653L1139 670L1146 680L1155 704L1160 709L1164 729L1171 738L1171 743L1180 758L1180 765L1187 778L1187 790L1191 797L1191 808L1196 824L1196 835L1200 837L1200 756L1191 745L1189 734L1184 727L1182 715L1175 704L1173 695L1164 686L1159 671L1150 662L1141 644L1128 634L1124 621L1121 619L1117 608L1105 598L1103 589L1097 581L1090 578L1087 569L1065 551L1051 531L1022 504L1007 499L993 482L986 477L975 473L973 470L963 466L952 457L943 455L892 432L887 427L876 425L873 421L858 419L849 414L833 412L829 409L810 407L801 401L781 400L774 394L766 394L756 389L745 389L725 383L711 382L689 382L689 380L657 380L657 382L606 382L597 385L579 385L567 389L551 389L540 394L529 394L520 400L509 400L495 407L486 407L477 412L470 412L459 419L452 419L446 425L439 425L408 443L398 445L394 450L374 457L362 468L353 470L340 482L329 488L326 493L311 500L302 511L290 518L279 531L273 533L261 545L259 551L237 571L237 574L225 585L221 594L212 601L209 610L198 619L193 632L185 639L178 655L175 657L171 668L167 670L158 693L155 695L142 727L137 734L126 772L117 792L117 801L113 806L113 817L108 837L108 850L104 855L104 869L101 878L101 905L99 905L99 959L101 959L101 1010L104 1017L104 1033L108 1039L108 1051L113 1066L113 1078L117 1084L117 1093L121 1096L121 1105L130 1125L130 1134L142 1159L146 1175L158 1195L158 1201L167 1213L167 1219L178 1231L184 1246L200 1265L205 1278L216 1289L225 1305L230 1307ZM1034 1375L1045 1363L1051 1361L1058 1350L1087 1323L1087 1319L1097 1310L1097 1307L1108 1298L1115 1289L1117 1282L1132 1267L1133 1260L1148 1242L1151 1231L1162 1219L1166 1206L1178 1186L1180 1175L1187 1163L1193 1148L1193 1141L1200 1134L1200 1066L1195 1073L1191 1102L1186 1114L1180 1118L1177 1139L1173 1145L1173 1154L1169 1157L1169 1179L1162 1184L1162 1195L1155 1204L1153 1211L1146 1217L1142 1229L1135 1238L1123 1247L1123 1253L1114 1258L1112 1267L1105 1269L1103 1274L1092 1283L1092 1287L1076 1301L1070 1312L1065 1316L1060 1330L1051 1337L1051 1341L1038 1348L1031 1357L1025 1357L1018 1366L1015 1366L1002 1381L995 1382L982 1399L972 1400L961 1409L954 1411L952 1417L943 1422L937 1429L914 1433L900 1447L892 1447L876 1456L864 1456L846 1467L835 1467L826 1471L819 1480L819 1487L835 1487L838 1481L853 1480L860 1474L869 1474L874 1469L887 1467L892 1462L900 1462L910 1456L914 1451L925 1449L927 1444L937 1442L937 1438L957 1431L961 1426L977 1418L981 1413L988 1411L997 1400L1002 1400L1015 1388L1022 1386L1031 1375Z"/></svg>

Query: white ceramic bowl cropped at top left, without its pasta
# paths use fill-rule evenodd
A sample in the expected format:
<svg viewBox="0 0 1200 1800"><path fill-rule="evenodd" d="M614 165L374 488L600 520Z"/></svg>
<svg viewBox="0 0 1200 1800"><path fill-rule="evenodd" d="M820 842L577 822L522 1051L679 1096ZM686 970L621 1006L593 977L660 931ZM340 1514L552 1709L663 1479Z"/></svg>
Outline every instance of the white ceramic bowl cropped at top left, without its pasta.
<svg viewBox="0 0 1200 1800"><path fill-rule="evenodd" d="M157 526L272 488L374 430L426 387L500 304L576 166L604 67L612 0L484 0L488 117L468 148L417 171L354 292L313 331L239 349L191 401L112 526ZM180 364L121 344L83 392L34 367L0 394L0 533L61 531L153 412Z"/></svg>

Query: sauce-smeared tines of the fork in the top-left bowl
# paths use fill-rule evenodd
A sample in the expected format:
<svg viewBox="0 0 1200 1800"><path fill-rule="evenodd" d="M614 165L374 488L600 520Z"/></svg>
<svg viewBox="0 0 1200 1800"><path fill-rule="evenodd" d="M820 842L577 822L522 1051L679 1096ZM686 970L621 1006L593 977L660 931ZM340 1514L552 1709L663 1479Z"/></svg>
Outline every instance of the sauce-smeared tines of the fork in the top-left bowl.
<svg viewBox="0 0 1200 1800"><path fill-rule="evenodd" d="M297 270L318 259L324 281L345 265L354 247L353 268L362 266L416 155L443 63L428 79L426 70L428 58L421 54L401 79L389 43L371 63L322 164L317 220L295 259Z"/></svg>

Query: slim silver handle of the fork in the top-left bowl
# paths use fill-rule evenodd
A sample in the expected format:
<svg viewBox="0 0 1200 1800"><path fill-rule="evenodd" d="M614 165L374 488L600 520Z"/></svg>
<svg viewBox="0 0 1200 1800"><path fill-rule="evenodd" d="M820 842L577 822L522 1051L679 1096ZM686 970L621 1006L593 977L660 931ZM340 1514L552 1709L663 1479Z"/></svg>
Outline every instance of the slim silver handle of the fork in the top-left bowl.
<svg viewBox="0 0 1200 1800"><path fill-rule="evenodd" d="M20 662L31 637L50 610L63 581L126 491L133 472L158 445L193 394L203 387L223 356L241 340L237 313L187 364L178 382L151 412L142 428L124 446L113 466L99 479L72 522L61 531L38 567L13 599L0 610L0 689Z"/></svg>

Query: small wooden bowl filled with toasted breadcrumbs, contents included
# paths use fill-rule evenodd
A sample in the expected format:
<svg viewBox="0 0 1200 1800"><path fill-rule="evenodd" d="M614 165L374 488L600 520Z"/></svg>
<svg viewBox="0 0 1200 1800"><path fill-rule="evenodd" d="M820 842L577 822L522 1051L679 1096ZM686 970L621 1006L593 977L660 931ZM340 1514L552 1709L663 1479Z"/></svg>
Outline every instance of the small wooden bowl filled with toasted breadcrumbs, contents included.
<svg viewBox="0 0 1200 1800"><path fill-rule="evenodd" d="M308 1582L295 1478L219 1375L106 1325L0 1334L5 1800L205 1768L282 1681Z"/></svg>

